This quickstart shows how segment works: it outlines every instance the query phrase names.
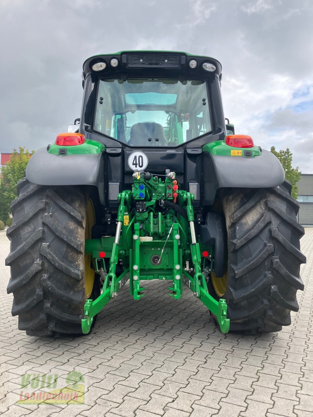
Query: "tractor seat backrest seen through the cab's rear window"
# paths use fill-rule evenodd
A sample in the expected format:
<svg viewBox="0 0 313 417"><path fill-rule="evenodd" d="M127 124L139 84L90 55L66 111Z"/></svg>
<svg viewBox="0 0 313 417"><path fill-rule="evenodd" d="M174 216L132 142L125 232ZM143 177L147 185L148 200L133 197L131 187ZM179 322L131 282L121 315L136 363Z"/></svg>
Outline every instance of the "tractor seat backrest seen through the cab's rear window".
<svg viewBox="0 0 313 417"><path fill-rule="evenodd" d="M129 145L168 146L163 126L159 123L144 122L131 126Z"/></svg>

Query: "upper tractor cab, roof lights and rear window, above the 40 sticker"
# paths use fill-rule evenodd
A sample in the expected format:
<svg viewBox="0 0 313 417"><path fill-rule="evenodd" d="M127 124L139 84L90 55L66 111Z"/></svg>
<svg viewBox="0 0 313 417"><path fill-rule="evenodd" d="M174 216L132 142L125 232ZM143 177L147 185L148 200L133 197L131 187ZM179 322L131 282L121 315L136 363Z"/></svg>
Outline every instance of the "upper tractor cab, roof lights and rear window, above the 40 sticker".
<svg viewBox="0 0 313 417"><path fill-rule="evenodd" d="M81 133L123 148L184 148L196 138L224 138L220 78L217 60L182 52L89 58Z"/></svg>

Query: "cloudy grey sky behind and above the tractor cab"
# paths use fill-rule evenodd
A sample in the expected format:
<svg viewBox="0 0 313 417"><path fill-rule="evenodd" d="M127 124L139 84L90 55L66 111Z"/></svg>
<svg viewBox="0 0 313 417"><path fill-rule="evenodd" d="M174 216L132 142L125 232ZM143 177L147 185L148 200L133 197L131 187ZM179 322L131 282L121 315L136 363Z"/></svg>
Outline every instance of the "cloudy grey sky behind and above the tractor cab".
<svg viewBox="0 0 313 417"><path fill-rule="evenodd" d="M182 50L222 63L225 117L313 173L312 0L1 0L0 152L54 141L81 113L83 61Z"/></svg>

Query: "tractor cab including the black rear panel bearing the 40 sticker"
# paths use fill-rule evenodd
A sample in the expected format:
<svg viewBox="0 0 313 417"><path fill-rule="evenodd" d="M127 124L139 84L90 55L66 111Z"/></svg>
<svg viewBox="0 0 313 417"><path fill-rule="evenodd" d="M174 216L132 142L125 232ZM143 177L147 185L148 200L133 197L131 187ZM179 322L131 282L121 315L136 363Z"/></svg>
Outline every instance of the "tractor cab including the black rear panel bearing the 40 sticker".
<svg viewBox="0 0 313 417"><path fill-rule="evenodd" d="M202 147L226 136L221 64L183 52L120 52L83 64L79 133L106 147L106 212L135 170L175 171L201 218Z"/></svg>

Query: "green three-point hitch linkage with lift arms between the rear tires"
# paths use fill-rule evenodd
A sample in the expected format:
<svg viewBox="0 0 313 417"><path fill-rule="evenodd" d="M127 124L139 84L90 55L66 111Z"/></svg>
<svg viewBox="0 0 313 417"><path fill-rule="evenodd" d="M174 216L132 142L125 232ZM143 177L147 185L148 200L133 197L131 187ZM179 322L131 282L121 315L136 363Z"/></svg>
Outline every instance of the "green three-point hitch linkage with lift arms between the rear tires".
<svg viewBox="0 0 313 417"><path fill-rule="evenodd" d="M110 299L118 295L127 279L130 295L135 300L145 296L140 281L171 281L169 296L173 299L181 298L184 281L194 296L215 314L221 331L227 333L229 319L226 318L226 302L223 299L216 301L208 294L202 273L204 262L200 245L191 232L194 229L194 195L179 189L175 174L174 178L167 176L163 180L156 176L144 178L143 173L137 173L133 181L131 190L118 195L116 236L103 236L85 242L85 253L92 256L95 270L102 276L103 288L102 294L96 300L86 301L85 317L82 320L83 333L90 331L93 317ZM174 201L175 193L176 202L184 208L188 220L172 210L162 214L158 209L161 200ZM135 207L134 214L131 211L132 207ZM203 246L201 244L201 249ZM104 251L106 259L109 259L108 274L105 271L104 260L99 258L101 251ZM120 259L124 272L118 276L116 266ZM193 276L184 271L187 260L193 265Z"/></svg>

